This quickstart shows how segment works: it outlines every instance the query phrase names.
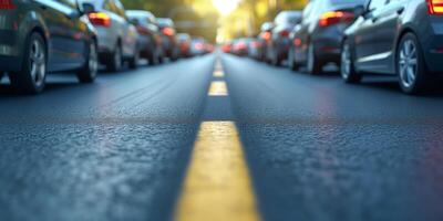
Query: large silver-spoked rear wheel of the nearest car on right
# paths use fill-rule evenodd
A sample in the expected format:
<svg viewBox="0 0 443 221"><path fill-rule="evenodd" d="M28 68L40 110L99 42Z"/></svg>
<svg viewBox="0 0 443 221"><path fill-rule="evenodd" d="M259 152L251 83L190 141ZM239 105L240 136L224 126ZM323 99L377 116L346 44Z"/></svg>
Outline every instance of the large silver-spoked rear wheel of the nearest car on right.
<svg viewBox="0 0 443 221"><path fill-rule="evenodd" d="M430 86L431 76L426 71L423 51L412 33L405 34L399 43L396 72L400 86L406 94L420 94Z"/></svg>

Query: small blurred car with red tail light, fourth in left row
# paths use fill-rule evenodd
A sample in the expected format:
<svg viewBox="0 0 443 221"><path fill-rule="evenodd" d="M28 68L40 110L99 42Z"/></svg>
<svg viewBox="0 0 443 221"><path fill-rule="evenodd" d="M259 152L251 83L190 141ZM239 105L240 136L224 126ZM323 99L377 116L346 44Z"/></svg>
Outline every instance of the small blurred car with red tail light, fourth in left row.
<svg viewBox="0 0 443 221"><path fill-rule="evenodd" d="M172 61L177 60L179 56L179 49L174 21L167 18L159 18L157 19L157 24L163 34L162 42L165 55Z"/></svg>

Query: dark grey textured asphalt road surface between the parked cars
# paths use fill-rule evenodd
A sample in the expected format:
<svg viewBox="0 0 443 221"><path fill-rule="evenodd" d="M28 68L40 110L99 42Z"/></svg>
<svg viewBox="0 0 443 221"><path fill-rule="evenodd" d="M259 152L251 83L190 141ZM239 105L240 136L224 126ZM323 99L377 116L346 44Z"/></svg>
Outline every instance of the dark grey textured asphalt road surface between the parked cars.
<svg viewBox="0 0 443 221"><path fill-rule="evenodd" d="M202 122L236 123L262 220L443 220L443 93L220 60L1 85L0 220L172 220Z"/></svg>

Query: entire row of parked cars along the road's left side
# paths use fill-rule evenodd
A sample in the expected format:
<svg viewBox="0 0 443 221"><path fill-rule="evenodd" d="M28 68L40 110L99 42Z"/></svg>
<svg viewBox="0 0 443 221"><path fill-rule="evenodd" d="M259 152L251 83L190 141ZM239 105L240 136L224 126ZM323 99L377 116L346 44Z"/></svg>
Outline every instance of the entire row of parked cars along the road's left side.
<svg viewBox="0 0 443 221"><path fill-rule="evenodd" d="M2 3L2 2L0 2ZM49 72L75 72L94 82L101 64L117 72L210 52L203 39L176 34L174 22L148 11L125 10L120 0L32 0L0 9L0 81L20 92L43 91Z"/></svg>

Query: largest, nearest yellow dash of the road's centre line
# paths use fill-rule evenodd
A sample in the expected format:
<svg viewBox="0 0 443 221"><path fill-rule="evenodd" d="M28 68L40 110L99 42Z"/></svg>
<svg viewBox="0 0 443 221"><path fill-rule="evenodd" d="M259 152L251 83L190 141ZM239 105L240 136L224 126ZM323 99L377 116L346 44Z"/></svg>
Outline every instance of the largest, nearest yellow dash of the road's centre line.
<svg viewBox="0 0 443 221"><path fill-rule="evenodd" d="M175 220L260 220L233 122L200 125Z"/></svg>

